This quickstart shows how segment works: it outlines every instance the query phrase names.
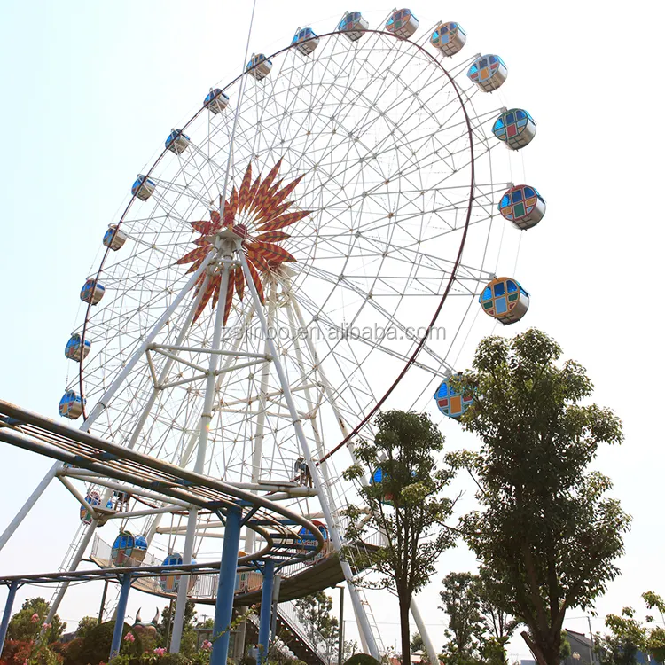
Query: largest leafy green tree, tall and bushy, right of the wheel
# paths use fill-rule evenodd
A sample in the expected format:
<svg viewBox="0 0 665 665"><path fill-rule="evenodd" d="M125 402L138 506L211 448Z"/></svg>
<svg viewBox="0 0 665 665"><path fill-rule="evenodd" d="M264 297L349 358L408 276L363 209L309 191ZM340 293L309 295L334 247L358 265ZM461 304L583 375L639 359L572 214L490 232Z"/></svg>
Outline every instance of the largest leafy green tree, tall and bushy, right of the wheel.
<svg viewBox="0 0 665 665"><path fill-rule="evenodd" d="M539 665L559 665L564 617L587 608L619 571L630 517L607 498L612 483L589 472L601 443L622 442L621 421L581 402L591 395L582 366L558 366L559 345L529 330L481 341L458 391L475 392L462 417L481 438L477 453L449 456L476 482L480 510L461 520L466 543L502 583L501 606L528 630Z"/></svg>

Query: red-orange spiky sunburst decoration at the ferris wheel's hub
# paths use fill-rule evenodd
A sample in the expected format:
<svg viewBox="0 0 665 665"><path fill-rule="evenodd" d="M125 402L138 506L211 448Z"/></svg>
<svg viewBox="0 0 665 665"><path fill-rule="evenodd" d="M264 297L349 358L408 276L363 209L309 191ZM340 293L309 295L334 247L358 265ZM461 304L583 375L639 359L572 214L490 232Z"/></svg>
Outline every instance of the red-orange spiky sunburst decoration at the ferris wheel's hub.
<svg viewBox="0 0 665 665"><path fill-rule="evenodd" d="M311 210L287 212L293 203L286 199L300 183L302 176L281 187L282 180L274 182L281 163L282 160L279 160L264 180L261 179L261 175L257 176L254 183L252 183L252 165L250 163L247 166L239 190L236 190L234 186L229 200L223 206L222 197L220 196L219 202L220 209L223 209L223 219L217 210L211 210L209 222L205 220L190 222L193 230L200 233L200 237L194 240L194 245L197 245L197 248L185 254L183 258L178 259L176 264L192 263L189 270L187 270L188 273L198 270L213 246L212 236L217 231L230 228L241 239L242 251L246 256L252 281L259 293L261 302L263 302L262 278L270 271L278 269L282 263L295 261L292 254L278 245L278 243L290 238L290 235L285 231L281 231L281 229L285 229L311 213ZM237 220L242 223L236 223ZM194 321L200 317L211 298L212 309L215 309L222 287L222 271L223 267L216 267L215 272L208 279L206 289L194 312ZM205 278L206 273L204 272L196 282L194 297L198 295L203 287ZM242 300L245 293L245 275L240 266L229 270L229 286L224 294L224 325L226 325L231 312L234 291Z"/></svg>

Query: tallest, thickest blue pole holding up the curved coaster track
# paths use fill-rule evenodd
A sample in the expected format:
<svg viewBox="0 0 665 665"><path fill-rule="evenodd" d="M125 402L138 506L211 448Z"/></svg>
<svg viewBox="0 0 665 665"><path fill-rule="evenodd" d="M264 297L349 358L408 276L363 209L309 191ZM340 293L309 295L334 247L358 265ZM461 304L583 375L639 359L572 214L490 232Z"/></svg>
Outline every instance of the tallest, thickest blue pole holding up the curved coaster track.
<svg viewBox="0 0 665 665"><path fill-rule="evenodd" d="M219 566L217 599L215 601L215 624L213 627L213 652L210 665L226 665L231 639L231 615L233 613L233 593L236 589L238 551L240 547L240 509L229 508L226 513L222 562Z"/></svg>

